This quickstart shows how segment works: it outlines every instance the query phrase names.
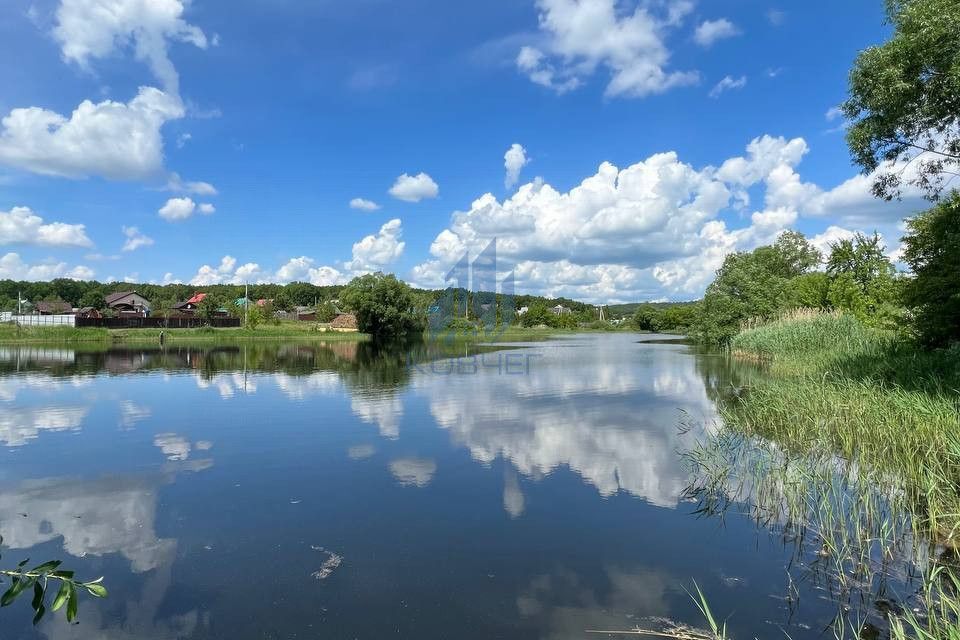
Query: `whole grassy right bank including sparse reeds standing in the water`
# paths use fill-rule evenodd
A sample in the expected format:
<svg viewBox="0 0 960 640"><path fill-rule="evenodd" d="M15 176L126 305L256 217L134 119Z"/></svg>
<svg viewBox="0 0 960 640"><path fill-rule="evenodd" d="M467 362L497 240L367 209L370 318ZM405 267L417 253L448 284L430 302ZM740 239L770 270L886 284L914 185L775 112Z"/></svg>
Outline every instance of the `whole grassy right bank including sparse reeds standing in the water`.
<svg viewBox="0 0 960 640"><path fill-rule="evenodd" d="M919 613L892 614L893 637L960 637L960 348L801 312L731 350L767 371L722 403L724 428L694 456L699 497L749 487L724 500L801 525L840 583L863 584L877 558L917 563Z"/></svg>

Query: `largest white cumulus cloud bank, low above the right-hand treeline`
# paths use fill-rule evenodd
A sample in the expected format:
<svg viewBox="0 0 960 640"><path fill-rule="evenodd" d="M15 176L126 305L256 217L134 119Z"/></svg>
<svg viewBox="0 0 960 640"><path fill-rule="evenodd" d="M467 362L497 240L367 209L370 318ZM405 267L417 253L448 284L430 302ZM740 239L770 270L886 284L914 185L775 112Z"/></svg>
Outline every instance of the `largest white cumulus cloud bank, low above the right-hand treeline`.
<svg viewBox="0 0 960 640"><path fill-rule="evenodd" d="M874 199L869 176L833 189L804 182L797 166L807 152L802 138L761 136L719 167L696 168L665 152L622 169L602 163L569 191L535 180L505 200L485 194L452 214L411 280L446 286L465 253L476 256L496 238L499 276L512 272L520 292L691 299L727 254L772 242L801 217L868 207L873 219L893 220L909 212L908 203ZM748 189L759 190L760 206L750 206Z"/></svg>

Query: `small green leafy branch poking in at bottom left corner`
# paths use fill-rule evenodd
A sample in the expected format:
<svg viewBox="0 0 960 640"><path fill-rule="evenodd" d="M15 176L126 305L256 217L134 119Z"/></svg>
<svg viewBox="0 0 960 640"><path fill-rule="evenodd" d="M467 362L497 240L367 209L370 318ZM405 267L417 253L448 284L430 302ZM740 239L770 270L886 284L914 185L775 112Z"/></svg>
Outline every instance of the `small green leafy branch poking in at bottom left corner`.
<svg viewBox="0 0 960 640"><path fill-rule="evenodd" d="M0 544L2 543L3 537L0 536ZM73 571L60 570L60 560L51 560L32 569L26 569L28 562L30 562L29 558L17 564L16 569L0 569L0 576L11 579L10 588L0 596L0 607L9 606L24 593L32 592L33 599L30 606L34 611L33 624L39 623L47 613L47 594L51 591L52 584L59 583L60 587L50 604L50 610L59 611L66 605L67 622L77 619L79 591L85 590L95 598L107 597L107 589L102 584L103 577L89 582L80 582L74 579Z"/></svg>

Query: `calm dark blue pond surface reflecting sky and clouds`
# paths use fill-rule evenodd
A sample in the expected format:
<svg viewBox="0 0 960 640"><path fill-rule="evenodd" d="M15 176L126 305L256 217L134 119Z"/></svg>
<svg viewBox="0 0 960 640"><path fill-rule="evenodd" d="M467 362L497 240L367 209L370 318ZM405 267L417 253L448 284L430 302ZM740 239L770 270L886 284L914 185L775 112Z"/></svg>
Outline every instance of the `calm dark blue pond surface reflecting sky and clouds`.
<svg viewBox="0 0 960 640"><path fill-rule="evenodd" d="M0 348L3 560L111 592L0 637L605 637L701 624L694 579L735 637L820 637L791 550L682 497L726 359L643 340Z"/></svg>

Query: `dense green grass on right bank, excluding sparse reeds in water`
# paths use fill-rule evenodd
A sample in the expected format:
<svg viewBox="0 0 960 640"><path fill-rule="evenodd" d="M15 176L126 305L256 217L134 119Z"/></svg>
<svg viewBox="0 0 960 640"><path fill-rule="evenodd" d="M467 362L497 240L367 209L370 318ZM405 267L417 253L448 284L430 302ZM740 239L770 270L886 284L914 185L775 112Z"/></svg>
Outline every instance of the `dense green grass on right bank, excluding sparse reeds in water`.
<svg viewBox="0 0 960 640"><path fill-rule="evenodd" d="M852 316L803 313L748 329L735 355L767 363L725 418L796 451L822 449L894 473L914 515L960 533L960 348L926 351Z"/></svg>

